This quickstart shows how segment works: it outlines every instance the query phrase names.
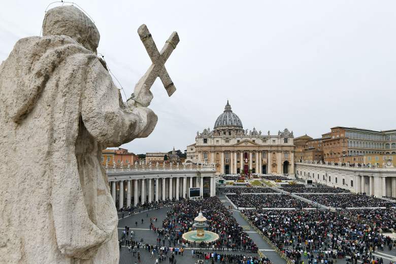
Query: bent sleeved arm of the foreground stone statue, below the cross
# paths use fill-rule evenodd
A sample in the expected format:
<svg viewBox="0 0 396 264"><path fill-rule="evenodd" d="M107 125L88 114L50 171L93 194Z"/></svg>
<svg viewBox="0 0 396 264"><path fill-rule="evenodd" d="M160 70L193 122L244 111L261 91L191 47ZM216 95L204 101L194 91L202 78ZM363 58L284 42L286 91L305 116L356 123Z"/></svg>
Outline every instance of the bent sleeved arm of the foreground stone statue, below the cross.
<svg viewBox="0 0 396 264"><path fill-rule="evenodd" d="M156 114L147 107L122 102L121 94L101 63L87 74L81 115L89 133L105 146L119 146L147 137L157 124Z"/></svg>

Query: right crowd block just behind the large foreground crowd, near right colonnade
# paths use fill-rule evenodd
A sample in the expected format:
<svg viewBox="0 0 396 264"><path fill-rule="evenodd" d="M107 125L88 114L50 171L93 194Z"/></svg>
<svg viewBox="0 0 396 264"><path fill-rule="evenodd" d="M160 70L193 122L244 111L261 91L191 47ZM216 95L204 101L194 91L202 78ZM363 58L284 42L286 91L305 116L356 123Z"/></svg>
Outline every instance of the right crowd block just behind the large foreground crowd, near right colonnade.
<svg viewBox="0 0 396 264"><path fill-rule="evenodd" d="M360 194L299 194L299 196L335 208L394 207L395 202Z"/></svg>

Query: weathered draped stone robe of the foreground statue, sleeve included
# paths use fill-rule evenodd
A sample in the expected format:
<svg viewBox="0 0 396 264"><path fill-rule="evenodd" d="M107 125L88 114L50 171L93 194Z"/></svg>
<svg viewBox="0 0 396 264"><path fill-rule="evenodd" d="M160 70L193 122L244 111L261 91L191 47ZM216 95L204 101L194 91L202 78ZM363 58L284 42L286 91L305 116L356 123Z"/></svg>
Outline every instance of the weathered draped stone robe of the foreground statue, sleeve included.
<svg viewBox="0 0 396 264"><path fill-rule="evenodd" d="M156 121L72 38L19 40L0 66L0 263L118 264L101 151Z"/></svg>

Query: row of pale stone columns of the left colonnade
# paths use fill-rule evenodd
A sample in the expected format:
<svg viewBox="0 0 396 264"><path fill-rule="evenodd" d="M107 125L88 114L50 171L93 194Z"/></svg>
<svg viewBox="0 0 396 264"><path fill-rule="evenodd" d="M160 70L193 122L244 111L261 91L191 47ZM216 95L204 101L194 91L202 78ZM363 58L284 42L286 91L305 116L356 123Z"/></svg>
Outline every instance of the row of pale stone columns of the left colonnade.
<svg viewBox="0 0 396 264"><path fill-rule="evenodd" d="M113 201L118 208L136 206L138 203L161 201L167 199L189 198L189 188L200 188L200 196L215 196L215 180L213 177L156 177L138 179L109 178L109 186ZM208 191L209 190L209 191ZM118 193L117 193L118 192ZM126 196L124 194L126 192Z"/></svg>

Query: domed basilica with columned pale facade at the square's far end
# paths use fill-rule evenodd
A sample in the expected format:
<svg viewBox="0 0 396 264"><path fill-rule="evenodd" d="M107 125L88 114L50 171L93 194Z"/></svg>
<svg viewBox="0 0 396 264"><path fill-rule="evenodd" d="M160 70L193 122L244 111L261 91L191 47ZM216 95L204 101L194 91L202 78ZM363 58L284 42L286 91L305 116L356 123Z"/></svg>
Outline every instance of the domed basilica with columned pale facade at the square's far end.
<svg viewBox="0 0 396 264"><path fill-rule="evenodd" d="M227 101L213 130L198 131L195 143L187 146L186 161L214 164L217 174L294 174L293 150L293 132L244 129Z"/></svg>

